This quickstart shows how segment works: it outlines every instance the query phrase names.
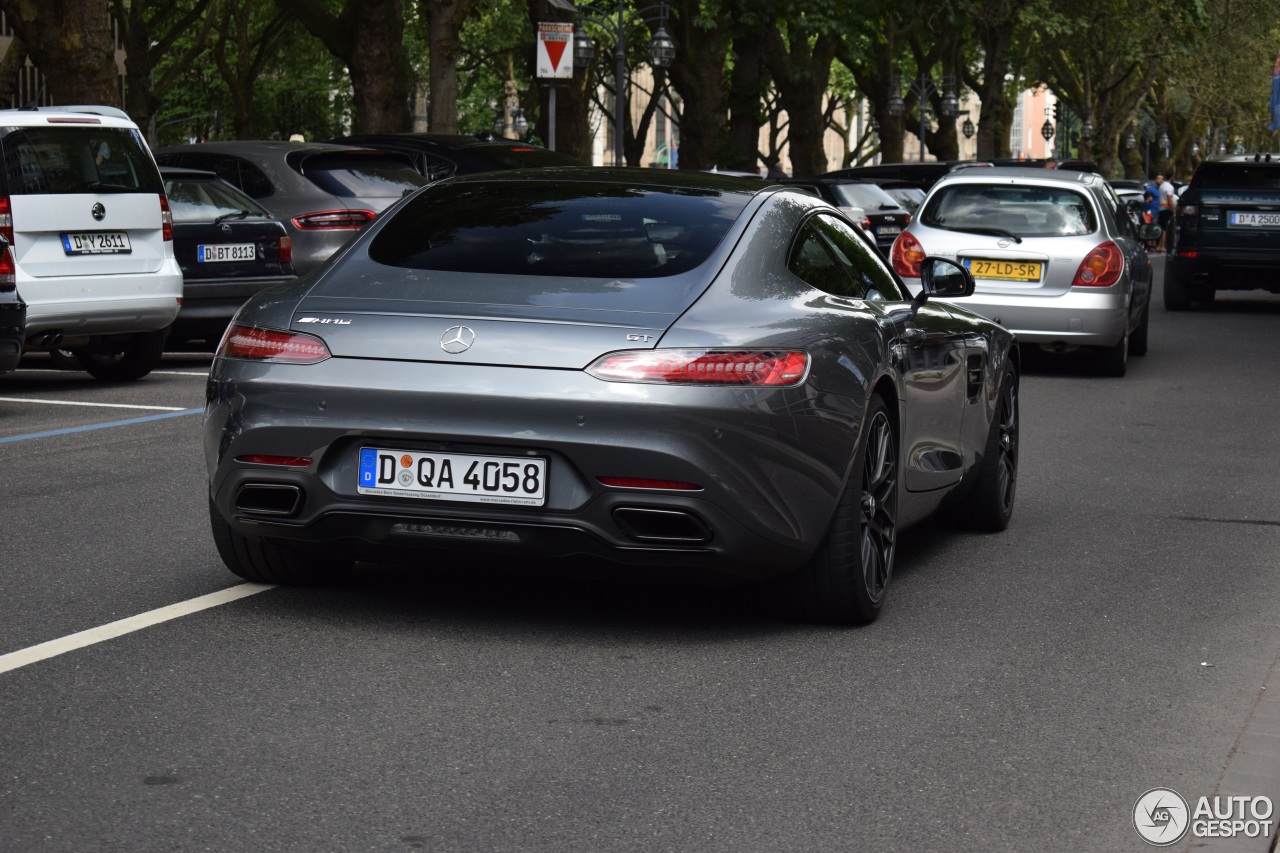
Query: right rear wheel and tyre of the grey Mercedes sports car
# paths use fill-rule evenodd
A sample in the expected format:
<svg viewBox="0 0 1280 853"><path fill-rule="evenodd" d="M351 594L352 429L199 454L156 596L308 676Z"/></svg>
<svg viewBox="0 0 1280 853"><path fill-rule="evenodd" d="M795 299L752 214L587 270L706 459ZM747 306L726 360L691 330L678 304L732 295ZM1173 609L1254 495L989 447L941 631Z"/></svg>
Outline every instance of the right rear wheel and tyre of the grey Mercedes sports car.
<svg viewBox="0 0 1280 853"><path fill-rule="evenodd" d="M884 602L897 549L897 437L888 407L872 397L855 456L827 535L792 578L801 613L813 621L865 625Z"/></svg>

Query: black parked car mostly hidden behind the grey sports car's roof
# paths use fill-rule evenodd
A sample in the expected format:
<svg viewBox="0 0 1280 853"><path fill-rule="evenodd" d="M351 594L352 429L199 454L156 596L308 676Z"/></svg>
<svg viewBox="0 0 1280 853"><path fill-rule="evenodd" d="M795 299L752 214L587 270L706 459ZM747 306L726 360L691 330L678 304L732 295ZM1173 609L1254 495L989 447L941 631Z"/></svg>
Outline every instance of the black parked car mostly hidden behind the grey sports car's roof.
<svg viewBox="0 0 1280 853"><path fill-rule="evenodd" d="M577 158L552 151L529 142L502 140L492 133L462 136L454 133L365 133L346 136L332 142L358 145L366 149L397 151L407 155L428 181L452 178L456 174L500 172L504 169L544 169L548 167L585 167Z"/></svg>

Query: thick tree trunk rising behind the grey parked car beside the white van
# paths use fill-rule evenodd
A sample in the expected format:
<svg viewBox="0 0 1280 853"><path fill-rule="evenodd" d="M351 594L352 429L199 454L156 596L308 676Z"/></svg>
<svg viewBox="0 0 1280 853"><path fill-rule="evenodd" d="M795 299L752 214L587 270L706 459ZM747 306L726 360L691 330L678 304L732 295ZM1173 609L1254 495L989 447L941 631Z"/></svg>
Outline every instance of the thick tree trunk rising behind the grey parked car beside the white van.
<svg viewBox="0 0 1280 853"><path fill-rule="evenodd" d="M316 0L275 0L275 5L347 64L357 133L410 129L403 0L343 0L337 13Z"/></svg>

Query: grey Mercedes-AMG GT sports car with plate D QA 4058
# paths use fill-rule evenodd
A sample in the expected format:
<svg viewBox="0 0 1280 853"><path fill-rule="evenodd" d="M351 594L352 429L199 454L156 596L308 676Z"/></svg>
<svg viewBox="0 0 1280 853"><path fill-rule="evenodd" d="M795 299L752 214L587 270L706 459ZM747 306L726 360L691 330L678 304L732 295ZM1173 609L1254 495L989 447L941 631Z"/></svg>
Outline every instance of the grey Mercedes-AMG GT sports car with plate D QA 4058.
<svg viewBox="0 0 1280 853"><path fill-rule="evenodd" d="M447 549L778 579L876 617L901 530L1004 529L1019 353L810 193L705 173L451 178L262 291L214 360L214 538L237 575Z"/></svg>

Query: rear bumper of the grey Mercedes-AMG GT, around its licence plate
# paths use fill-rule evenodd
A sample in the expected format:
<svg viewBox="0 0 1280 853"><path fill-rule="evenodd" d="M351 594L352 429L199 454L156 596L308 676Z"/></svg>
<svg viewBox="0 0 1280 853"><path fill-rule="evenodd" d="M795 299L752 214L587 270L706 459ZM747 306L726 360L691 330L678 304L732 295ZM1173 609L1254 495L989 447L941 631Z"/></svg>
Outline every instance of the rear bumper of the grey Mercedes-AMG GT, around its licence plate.
<svg viewBox="0 0 1280 853"><path fill-rule="evenodd" d="M608 383L576 370L218 360L205 415L210 496L243 535L362 560L424 564L430 552L461 549L589 555L739 578L794 571L826 533L861 405L803 386L708 391ZM538 456L548 460L547 500L503 506L361 494L361 447ZM246 453L314 462L237 461ZM611 488L602 475L700 488ZM297 505L257 512L244 498L256 485L296 488Z"/></svg>

